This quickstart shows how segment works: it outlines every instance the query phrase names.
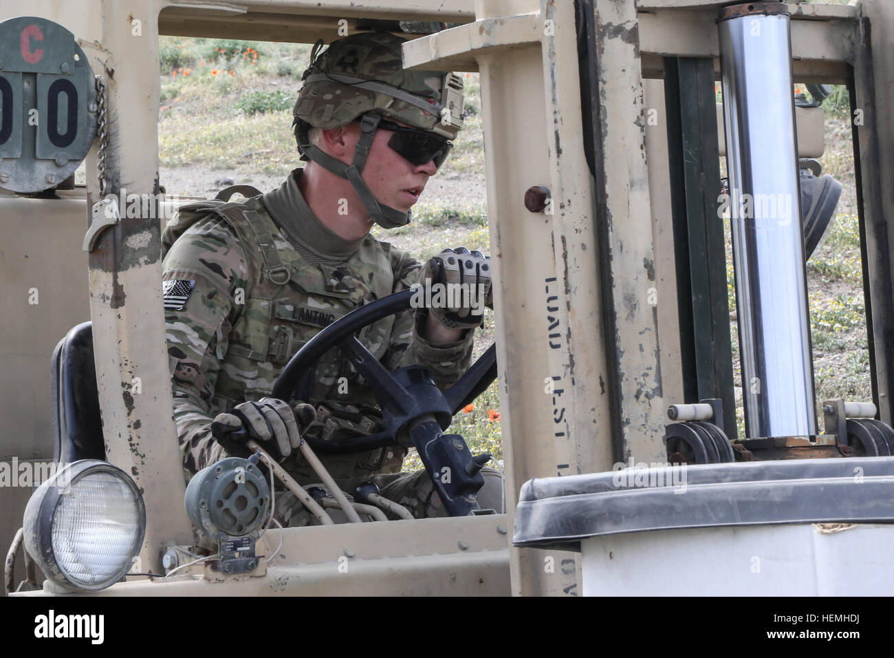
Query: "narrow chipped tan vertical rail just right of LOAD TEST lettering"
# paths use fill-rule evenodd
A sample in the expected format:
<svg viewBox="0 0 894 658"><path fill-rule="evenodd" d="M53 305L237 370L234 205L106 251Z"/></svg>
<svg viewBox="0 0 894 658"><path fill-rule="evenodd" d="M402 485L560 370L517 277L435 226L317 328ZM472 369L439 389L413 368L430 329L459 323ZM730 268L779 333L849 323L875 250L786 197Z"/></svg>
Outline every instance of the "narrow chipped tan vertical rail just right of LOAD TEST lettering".
<svg viewBox="0 0 894 658"><path fill-rule="evenodd" d="M663 400L652 219L645 161L645 103L635 3L595 1L600 107L596 139L597 222L603 257L603 313L612 431L619 461L657 461ZM601 139L600 139L601 137Z"/></svg>

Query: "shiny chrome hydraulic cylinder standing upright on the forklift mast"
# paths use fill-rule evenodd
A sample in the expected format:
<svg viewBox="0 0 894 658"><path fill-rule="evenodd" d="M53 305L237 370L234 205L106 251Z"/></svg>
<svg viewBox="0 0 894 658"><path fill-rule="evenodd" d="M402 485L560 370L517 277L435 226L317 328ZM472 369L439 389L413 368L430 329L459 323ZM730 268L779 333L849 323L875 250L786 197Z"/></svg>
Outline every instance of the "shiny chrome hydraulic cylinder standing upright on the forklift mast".
<svg viewBox="0 0 894 658"><path fill-rule="evenodd" d="M718 16L748 438L816 434L786 4Z"/></svg>

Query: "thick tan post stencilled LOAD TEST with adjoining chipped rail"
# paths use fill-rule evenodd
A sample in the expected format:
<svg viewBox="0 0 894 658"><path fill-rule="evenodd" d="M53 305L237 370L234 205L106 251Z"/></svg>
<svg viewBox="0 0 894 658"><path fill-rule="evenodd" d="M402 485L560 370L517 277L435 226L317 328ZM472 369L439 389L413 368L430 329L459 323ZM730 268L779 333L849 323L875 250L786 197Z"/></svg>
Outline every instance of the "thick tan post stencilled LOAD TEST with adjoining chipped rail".
<svg viewBox="0 0 894 658"><path fill-rule="evenodd" d="M476 8L475 24L410 42L404 60L481 72L511 523L531 478L605 471L620 456L664 460L652 221L633 0L601 5L603 27L629 29L600 32L601 49L590 54L603 68L586 93L597 106L600 94L611 98L604 120L617 126L595 158L599 203L583 129L592 117L579 109L573 5ZM623 81L621 69L630 73ZM578 593L575 554L510 556L513 593Z"/></svg>

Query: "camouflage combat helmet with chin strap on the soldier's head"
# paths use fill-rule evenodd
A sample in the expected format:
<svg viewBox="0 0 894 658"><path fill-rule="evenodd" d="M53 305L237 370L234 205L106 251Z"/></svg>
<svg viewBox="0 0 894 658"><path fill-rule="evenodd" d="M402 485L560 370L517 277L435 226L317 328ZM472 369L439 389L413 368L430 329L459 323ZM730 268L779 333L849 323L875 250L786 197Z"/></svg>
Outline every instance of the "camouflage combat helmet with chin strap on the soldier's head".
<svg viewBox="0 0 894 658"><path fill-rule="evenodd" d="M378 124L385 117L452 140L462 127L462 79L455 73L408 71L401 44L406 39L388 32L365 32L333 41L310 56L298 100L292 111L301 159L312 160L347 178L379 226L409 222L409 214L375 200L360 177ZM360 119L361 134L350 166L310 143L315 128L339 128Z"/></svg>

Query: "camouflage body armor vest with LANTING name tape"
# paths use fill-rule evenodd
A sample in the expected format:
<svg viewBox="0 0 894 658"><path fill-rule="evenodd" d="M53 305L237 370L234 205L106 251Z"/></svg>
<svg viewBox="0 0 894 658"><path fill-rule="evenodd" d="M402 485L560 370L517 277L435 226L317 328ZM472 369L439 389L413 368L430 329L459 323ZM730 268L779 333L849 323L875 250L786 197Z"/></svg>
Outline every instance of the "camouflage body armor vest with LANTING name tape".
<svg viewBox="0 0 894 658"><path fill-rule="evenodd" d="M259 197L235 203L199 201L181 206L175 220L164 227L162 258L178 237L210 214L227 222L247 255L261 254L257 268L247 258L248 289L241 294L235 291L232 326L224 323L217 336L221 369L211 400L211 413L217 414L230 411L240 402L269 396L292 355L342 315L390 295L394 275L387 254L372 237L369 240L377 248L367 248L369 243L364 243L360 249L364 250L364 268L375 270L375 277L364 277L353 266L354 257L335 266L309 263L283 238ZM388 349L393 322L394 316L384 318L358 335L377 359ZM229 331L222 335L227 328ZM337 348L321 357L311 391L310 399L302 401L315 405L323 400L375 403L372 392L358 381L357 372ZM374 471L399 471L405 453L394 447L320 457L334 478L345 480ZM283 466L299 482L316 482L316 475L306 465L297 460L290 464L293 458L299 459L298 451Z"/></svg>

